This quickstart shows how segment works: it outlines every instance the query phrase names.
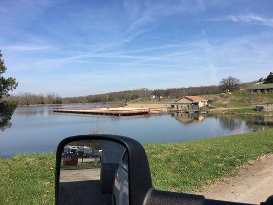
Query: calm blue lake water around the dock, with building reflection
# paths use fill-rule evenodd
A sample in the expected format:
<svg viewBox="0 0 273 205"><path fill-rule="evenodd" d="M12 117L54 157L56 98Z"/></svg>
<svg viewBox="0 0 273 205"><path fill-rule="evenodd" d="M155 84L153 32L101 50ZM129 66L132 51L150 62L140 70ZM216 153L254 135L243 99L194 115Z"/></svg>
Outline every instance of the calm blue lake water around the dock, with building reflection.
<svg viewBox="0 0 273 205"><path fill-rule="evenodd" d="M83 105L77 105L80 106ZM101 131L129 136L142 143L166 143L246 133L273 126L273 117L185 113L119 117L53 113L52 109L56 107L75 106L18 107L12 116L12 127L0 131L0 156L55 151L65 137Z"/></svg>

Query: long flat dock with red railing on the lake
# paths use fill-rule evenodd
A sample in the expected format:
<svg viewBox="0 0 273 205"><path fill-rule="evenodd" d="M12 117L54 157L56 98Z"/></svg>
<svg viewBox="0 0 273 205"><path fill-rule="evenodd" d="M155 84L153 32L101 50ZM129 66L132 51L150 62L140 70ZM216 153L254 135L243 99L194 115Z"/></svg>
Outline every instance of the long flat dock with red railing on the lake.
<svg viewBox="0 0 273 205"><path fill-rule="evenodd" d="M130 115L144 115L153 113L167 112L167 106L161 104L155 106L143 105L141 107L134 104L123 104L114 106L92 106L92 107L74 107L74 108L53 108L56 113L73 113L73 114L89 114L89 115L116 115L116 116L130 116Z"/></svg>

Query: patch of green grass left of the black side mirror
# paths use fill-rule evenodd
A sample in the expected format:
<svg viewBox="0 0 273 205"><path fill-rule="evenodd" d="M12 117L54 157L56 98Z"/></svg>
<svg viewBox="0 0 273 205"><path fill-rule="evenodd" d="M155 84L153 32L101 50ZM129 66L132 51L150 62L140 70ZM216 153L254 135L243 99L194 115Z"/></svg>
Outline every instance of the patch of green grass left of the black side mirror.
<svg viewBox="0 0 273 205"><path fill-rule="evenodd" d="M0 204L54 204L55 153L0 158Z"/></svg>

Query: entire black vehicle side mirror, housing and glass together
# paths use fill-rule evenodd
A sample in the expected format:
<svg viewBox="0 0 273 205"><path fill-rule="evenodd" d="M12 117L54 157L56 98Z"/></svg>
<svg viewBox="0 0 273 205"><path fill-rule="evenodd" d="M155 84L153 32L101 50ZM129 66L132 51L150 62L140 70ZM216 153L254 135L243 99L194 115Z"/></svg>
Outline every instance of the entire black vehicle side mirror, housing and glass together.
<svg viewBox="0 0 273 205"><path fill-rule="evenodd" d="M62 140L56 153L56 204L141 204L152 187L139 142L115 135Z"/></svg>

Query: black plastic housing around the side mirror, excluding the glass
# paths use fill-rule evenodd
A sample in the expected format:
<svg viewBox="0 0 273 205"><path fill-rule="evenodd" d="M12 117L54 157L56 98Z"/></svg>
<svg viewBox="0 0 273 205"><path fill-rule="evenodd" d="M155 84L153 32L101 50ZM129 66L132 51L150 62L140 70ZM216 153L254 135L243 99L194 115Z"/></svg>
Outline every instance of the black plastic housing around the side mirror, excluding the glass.
<svg viewBox="0 0 273 205"><path fill-rule="evenodd" d="M148 159L141 144L132 138L118 135L79 135L63 139L57 148L55 174L56 205L59 204L58 192L62 151L67 144L77 140L108 140L117 142L118 144L124 146L128 151L129 158L129 204L137 205L144 202L146 194L148 193L149 189L152 188L152 179Z"/></svg>

